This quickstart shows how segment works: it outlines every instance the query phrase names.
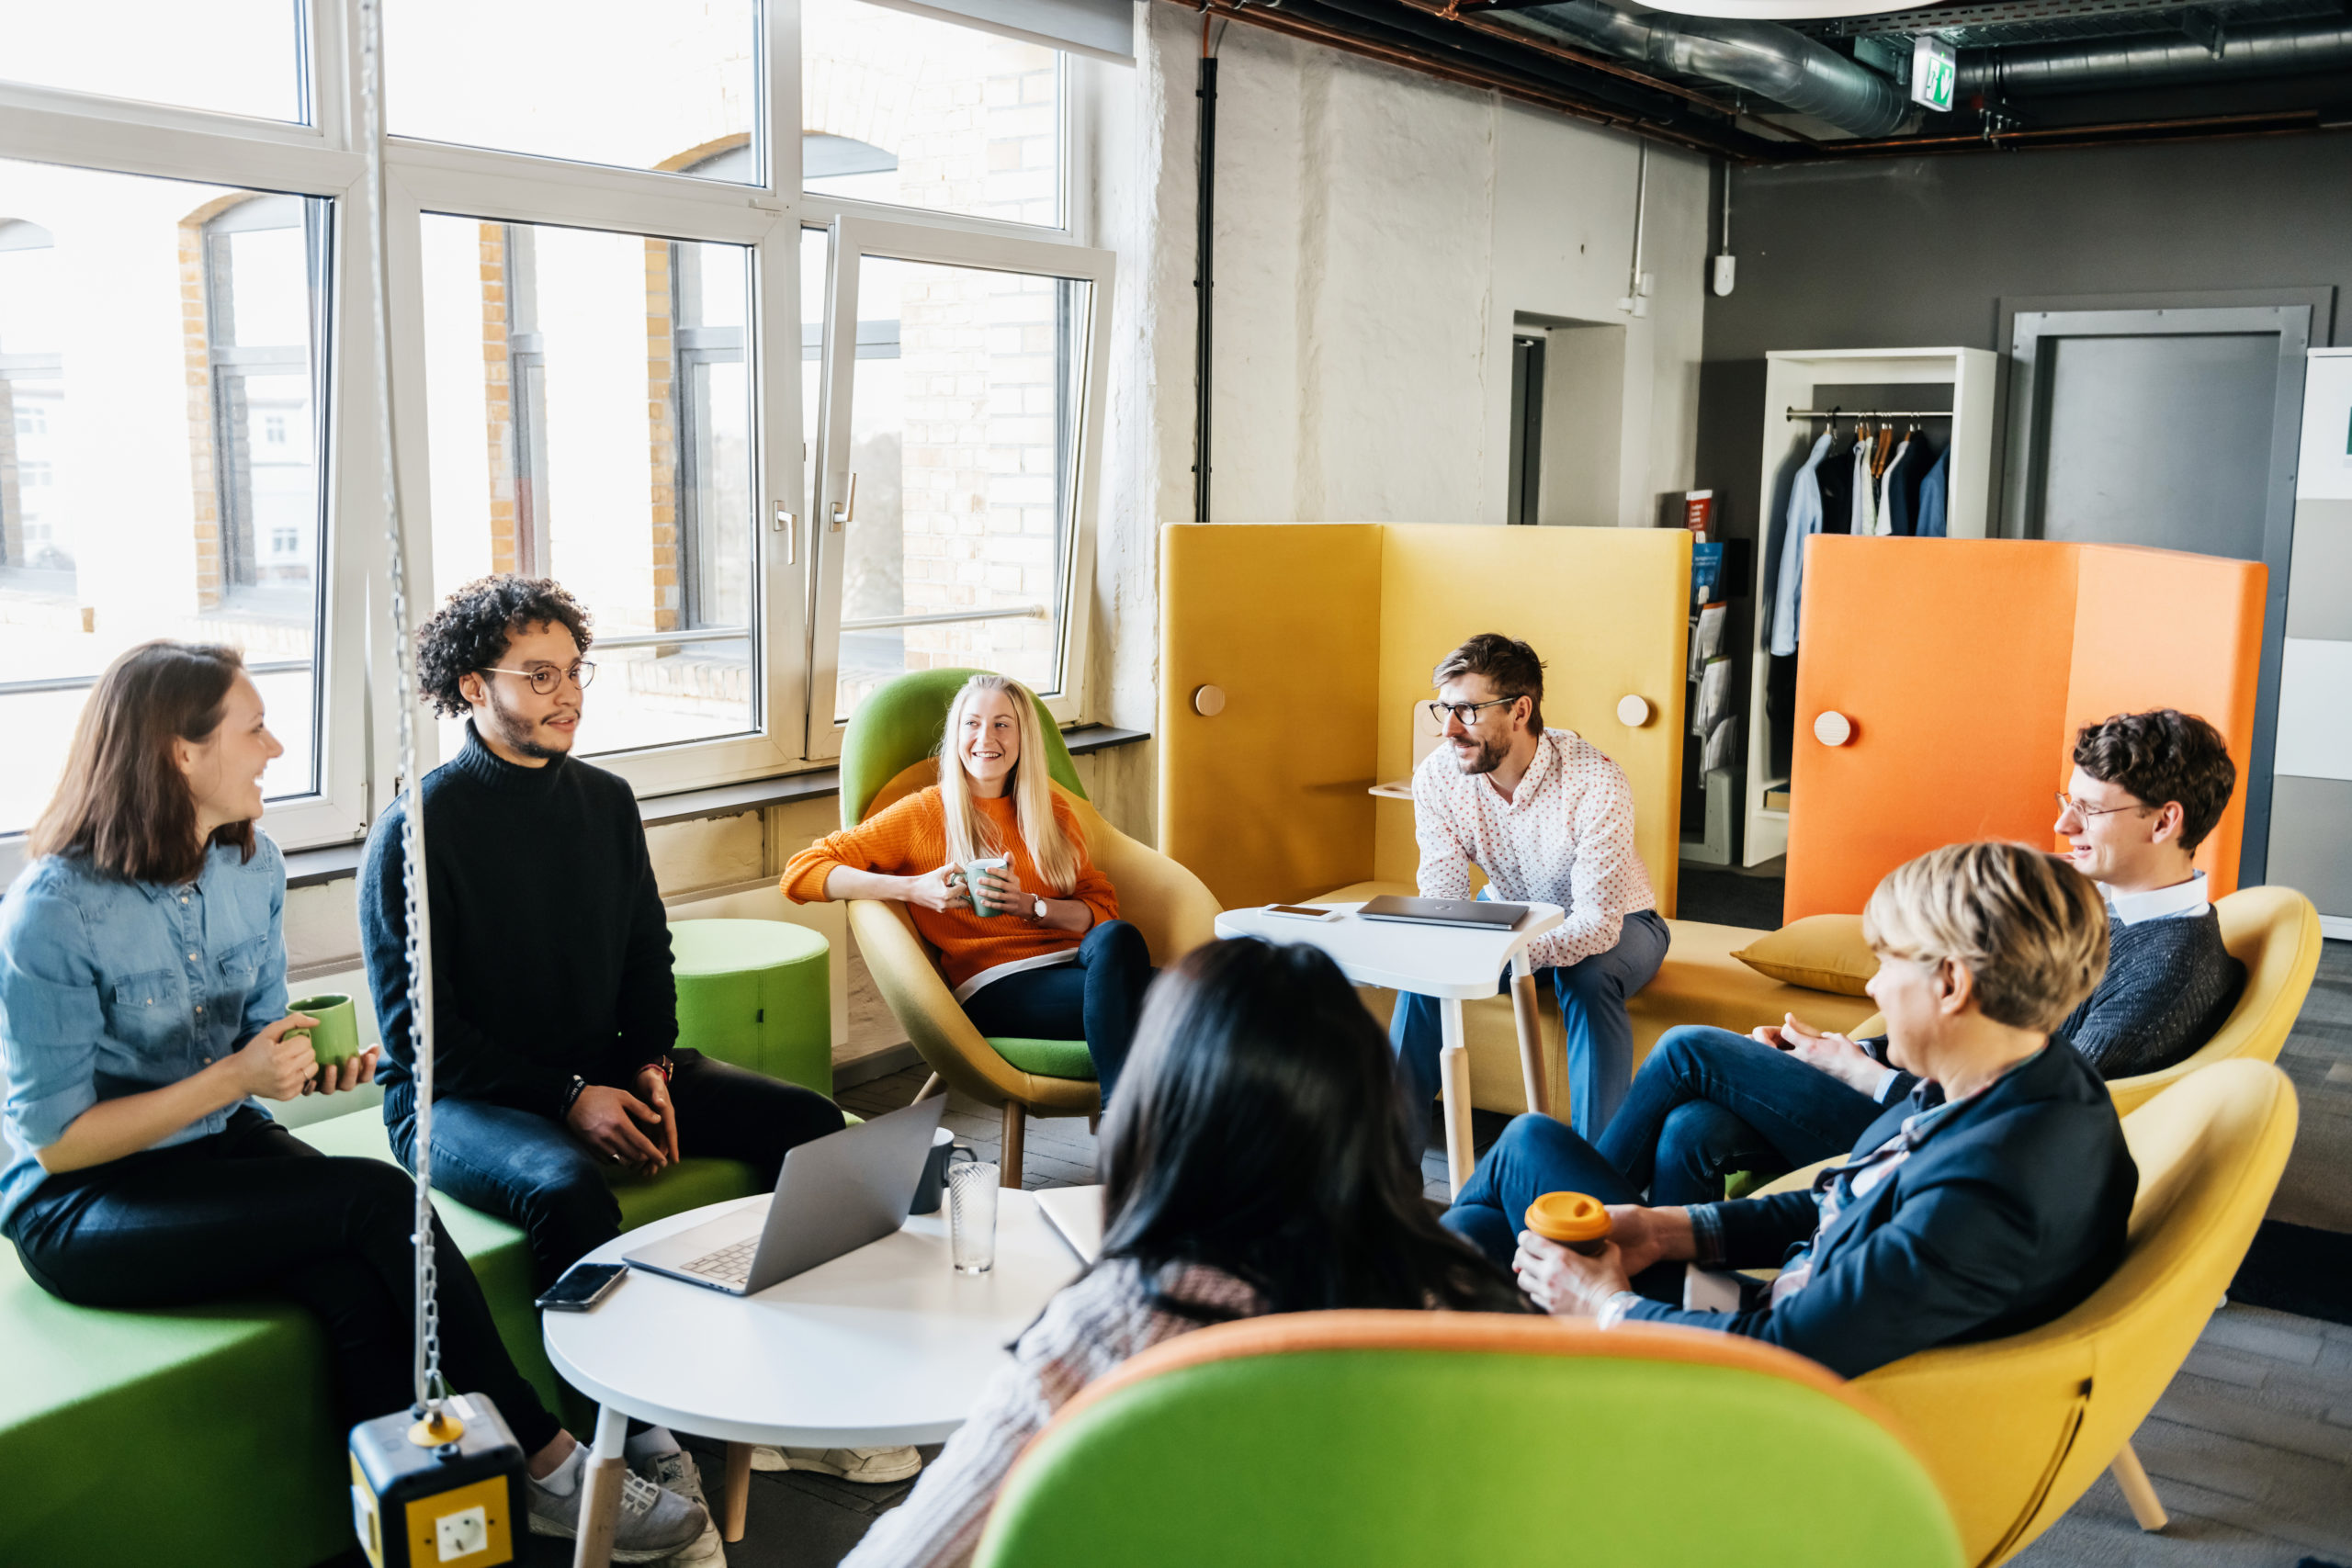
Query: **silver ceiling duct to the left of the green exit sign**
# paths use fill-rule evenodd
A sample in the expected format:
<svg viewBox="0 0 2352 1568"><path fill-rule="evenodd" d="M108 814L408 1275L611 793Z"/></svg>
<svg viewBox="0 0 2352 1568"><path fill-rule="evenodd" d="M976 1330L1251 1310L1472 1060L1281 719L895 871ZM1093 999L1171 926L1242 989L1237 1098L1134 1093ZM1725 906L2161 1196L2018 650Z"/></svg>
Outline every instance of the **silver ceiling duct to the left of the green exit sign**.
<svg viewBox="0 0 2352 1568"><path fill-rule="evenodd" d="M1773 21L1635 16L1602 0L1498 14L1675 75L1752 92L1851 136L1891 136L1910 115L1903 89L1891 80Z"/></svg>

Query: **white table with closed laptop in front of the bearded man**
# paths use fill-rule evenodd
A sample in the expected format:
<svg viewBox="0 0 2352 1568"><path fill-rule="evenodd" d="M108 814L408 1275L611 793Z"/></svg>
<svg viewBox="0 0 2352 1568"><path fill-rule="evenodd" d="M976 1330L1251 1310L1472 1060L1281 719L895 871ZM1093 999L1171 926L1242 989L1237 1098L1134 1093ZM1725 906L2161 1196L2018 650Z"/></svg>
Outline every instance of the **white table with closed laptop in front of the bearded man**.
<svg viewBox="0 0 2352 1568"><path fill-rule="evenodd" d="M1319 900L1317 900L1319 903ZM1566 919L1557 903L1531 903L1519 924L1508 931L1482 926L1418 926L1392 919L1364 919L1359 903L1327 903L1345 910L1341 919L1312 922L1256 910L1225 910L1216 933L1256 936L1268 943L1305 943L1331 954L1357 985L1418 992L1437 999L1442 1044L1437 1084L1446 1119L1446 1180L1454 1192L1470 1180L1470 1058L1463 1051L1463 1001L1491 997L1503 966L1510 966L1510 1001L1519 1027L1519 1077L1529 1110L1550 1114L1552 1095L1543 1074L1543 1034L1536 1025L1536 971L1526 945ZM1402 1006L1402 1004L1399 1004Z"/></svg>

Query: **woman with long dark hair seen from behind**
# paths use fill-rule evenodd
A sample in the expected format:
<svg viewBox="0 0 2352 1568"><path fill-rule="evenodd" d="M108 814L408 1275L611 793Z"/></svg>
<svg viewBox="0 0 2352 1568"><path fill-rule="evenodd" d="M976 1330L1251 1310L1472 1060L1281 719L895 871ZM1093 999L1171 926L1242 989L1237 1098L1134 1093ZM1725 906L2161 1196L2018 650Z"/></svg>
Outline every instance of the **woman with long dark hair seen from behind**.
<svg viewBox="0 0 2352 1568"><path fill-rule="evenodd" d="M842 1568L946 1568L1021 1448L1120 1361L1265 1312L1524 1312L1437 1225L1381 1025L1315 947L1211 943L1164 973L1103 1124L1103 1255Z"/></svg>

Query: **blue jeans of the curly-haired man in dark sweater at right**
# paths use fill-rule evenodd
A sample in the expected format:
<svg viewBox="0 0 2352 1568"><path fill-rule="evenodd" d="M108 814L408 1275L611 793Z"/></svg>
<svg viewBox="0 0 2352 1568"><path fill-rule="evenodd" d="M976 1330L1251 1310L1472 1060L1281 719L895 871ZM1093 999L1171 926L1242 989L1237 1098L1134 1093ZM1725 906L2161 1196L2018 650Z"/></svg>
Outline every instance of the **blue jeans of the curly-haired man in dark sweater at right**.
<svg viewBox="0 0 2352 1568"><path fill-rule="evenodd" d="M1731 1030L1668 1030L1599 1138L1658 1208L1712 1204L1731 1171L1795 1171L1853 1147L1886 1107Z"/></svg>

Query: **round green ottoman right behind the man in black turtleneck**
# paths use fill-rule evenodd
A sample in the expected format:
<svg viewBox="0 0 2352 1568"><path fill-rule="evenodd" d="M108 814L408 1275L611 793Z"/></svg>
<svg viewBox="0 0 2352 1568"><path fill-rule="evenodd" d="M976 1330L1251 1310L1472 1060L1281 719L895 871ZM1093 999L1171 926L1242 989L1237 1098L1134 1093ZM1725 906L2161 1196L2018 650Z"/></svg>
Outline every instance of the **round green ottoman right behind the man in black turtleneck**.
<svg viewBox="0 0 2352 1568"><path fill-rule="evenodd" d="M781 919L673 919L677 1044L833 1095L833 945Z"/></svg>

